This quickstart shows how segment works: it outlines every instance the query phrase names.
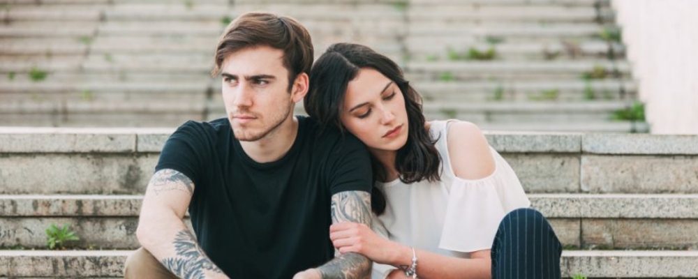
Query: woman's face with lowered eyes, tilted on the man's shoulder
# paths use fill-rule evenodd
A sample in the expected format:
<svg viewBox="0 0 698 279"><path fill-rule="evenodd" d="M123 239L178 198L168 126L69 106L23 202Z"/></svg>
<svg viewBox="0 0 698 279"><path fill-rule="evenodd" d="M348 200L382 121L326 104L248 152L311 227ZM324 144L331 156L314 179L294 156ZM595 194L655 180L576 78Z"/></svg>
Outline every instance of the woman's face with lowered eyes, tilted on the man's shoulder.
<svg viewBox="0 0 698 279"><path fill-rule="evenodd" d="M405 98L399 86L373 68L349 82L340 118L350 133L374 151L397 151L407 142Z"/></svg>

